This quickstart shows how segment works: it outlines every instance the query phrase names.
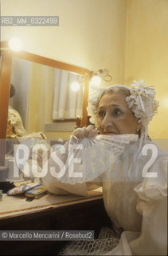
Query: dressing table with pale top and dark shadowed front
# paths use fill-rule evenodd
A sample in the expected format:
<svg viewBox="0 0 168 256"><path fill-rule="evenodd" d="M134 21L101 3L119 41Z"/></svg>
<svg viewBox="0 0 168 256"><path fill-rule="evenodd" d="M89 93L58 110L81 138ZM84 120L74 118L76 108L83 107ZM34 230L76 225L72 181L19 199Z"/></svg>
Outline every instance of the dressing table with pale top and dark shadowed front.
<svg viewBox="0 0 168 256"><path fill-rule="evenodd" d="M101 227L111 223L99 190L87 197L46 194L32 202L5 194L0 206L0 230L94 230L97 238ZM1 241L0 255L57 255L66 243Z"/></svg>

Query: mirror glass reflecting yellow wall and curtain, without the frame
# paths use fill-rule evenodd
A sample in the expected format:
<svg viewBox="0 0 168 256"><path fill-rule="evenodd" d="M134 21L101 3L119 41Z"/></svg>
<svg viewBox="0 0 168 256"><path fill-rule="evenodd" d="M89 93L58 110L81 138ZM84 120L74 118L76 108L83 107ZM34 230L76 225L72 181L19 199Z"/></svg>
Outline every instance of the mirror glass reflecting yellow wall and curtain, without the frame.
<svg viewBox="0 0 168 256"><path fill-rule="evenodd" d="M83 91L83 75L21 58L12 60L10 109L18 111L28 133L45 132L46 124L58 120L76 123L83 115Z"/></svg>

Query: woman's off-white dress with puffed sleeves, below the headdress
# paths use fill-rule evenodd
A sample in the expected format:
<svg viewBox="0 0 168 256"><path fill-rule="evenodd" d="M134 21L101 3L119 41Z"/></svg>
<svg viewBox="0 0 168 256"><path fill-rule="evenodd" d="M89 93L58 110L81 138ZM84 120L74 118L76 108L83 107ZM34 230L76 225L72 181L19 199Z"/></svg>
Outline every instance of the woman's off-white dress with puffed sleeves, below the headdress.
<svg viewBox="0 0 168 256"><path fill-rule="evenodd" d="M135 142L139 148L139 142ZM154 145L150 141L146 144ZM137 154L135 159L134 147L125 150L119 155L118 160L101 175L103 179L104 206L111 222L116 227L122 227L124 232L118 246L108 252L107 255L166 255L167 254L167 165L168 155L158 148L157 158L149 168L148 173L157 173L158 178L143 178L142 170L149 162L151 154L144 156ZM127 168L124 169L124 157L127 154ZM62 155L62 161L67 155ZM100 156L99 156L100 157ZM135 162L132 162L135 159ZM52 164L52 162L50 162ZM53 163L54 164L54 163ZM107 182L109 173L114 171L115 164L119 170L121 179L113 179ZM123 175L123 171L128 172ZM133 175L135 174L135 175ZM119 177L117 177L119 178ZM43 182L48 190L52 185L52 192L59 193L57 187L75 194L87 194L88 183L76 183L71 185L53 182ZM93 181L94 182L94 181ZM92 184L92 183L89 183Z"/></svg>

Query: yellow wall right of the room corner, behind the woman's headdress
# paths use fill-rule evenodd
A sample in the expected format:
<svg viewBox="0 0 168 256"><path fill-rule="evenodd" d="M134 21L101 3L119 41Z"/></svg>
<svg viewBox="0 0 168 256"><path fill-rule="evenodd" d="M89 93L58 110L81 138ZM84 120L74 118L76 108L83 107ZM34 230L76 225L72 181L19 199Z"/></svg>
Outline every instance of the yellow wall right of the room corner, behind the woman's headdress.
<svg viewBox="0 0 168 256"><path fill-rule="evenodd" d="M127 1L127 51L125 82L143 79L154 86L160 102L150 122L151 138L168 150L168 1Z"/></svg>

